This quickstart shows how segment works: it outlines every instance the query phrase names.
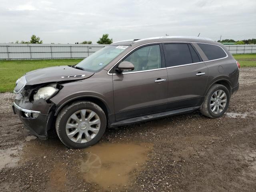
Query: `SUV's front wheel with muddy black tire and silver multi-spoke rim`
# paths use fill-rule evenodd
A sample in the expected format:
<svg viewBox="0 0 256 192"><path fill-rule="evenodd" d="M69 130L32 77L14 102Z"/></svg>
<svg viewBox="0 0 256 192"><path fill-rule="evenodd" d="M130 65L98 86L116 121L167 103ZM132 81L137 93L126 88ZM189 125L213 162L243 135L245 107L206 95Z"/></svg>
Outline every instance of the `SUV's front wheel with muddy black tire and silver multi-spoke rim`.
<svg viewBox="0 0 256 192"><path fill-rule="evenodd" d="M66 146L78 149L96 144L106 130L106 115L93 102L65 106L56 119L56 132Z"/></svg>

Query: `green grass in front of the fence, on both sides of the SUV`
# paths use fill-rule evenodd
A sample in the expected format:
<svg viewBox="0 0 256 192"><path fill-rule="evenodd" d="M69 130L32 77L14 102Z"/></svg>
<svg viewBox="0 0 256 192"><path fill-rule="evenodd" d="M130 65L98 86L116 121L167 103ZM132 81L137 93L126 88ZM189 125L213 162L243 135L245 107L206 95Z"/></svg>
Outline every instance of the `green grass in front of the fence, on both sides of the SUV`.
<svg viewBox="0 0 256 192"><path fill-rule="evenodd" d="M233 55L241 67L256 67L256 54ZM26 72L59 65L73 65L82 59L56 59L56 60L0 60L0 92L12 92L15 82Z"/></svg>

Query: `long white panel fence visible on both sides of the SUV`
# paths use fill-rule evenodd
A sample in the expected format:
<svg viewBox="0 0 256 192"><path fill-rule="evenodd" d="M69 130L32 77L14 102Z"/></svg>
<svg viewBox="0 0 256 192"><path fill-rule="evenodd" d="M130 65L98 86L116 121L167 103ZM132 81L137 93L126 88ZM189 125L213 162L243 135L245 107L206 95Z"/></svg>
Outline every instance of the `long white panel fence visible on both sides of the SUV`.
<svg viewBox="0 0 256 192"><path fill-rule="evenodd" d="M100 44L0 44L0 60L86 58ZM256 45L225 45L231 54L256 53Z"/></svg>

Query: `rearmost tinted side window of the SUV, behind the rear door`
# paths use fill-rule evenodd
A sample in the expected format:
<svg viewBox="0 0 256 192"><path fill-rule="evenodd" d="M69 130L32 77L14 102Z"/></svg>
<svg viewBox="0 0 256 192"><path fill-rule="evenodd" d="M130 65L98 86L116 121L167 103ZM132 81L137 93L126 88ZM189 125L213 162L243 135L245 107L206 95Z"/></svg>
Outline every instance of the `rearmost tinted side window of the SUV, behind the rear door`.
<svg viewBox="0 0 256 192"><path fill-rule="evenodd" d="M226 53L219 46L204 43L198 43L198 46L203 50L204 54L209 60L226 57Z"/></svg>

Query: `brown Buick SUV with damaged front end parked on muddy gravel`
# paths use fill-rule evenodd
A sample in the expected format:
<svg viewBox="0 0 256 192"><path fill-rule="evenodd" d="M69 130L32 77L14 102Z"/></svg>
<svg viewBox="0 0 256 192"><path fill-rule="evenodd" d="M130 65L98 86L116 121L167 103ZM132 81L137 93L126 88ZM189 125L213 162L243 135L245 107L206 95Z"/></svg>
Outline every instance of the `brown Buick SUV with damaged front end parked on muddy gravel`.
<svg viewBox="0 0 256 192"><path fill-rule="evenodd" d="M157 37L115 42L74 66L26 73L13 109L38 138L56 127L71 148L98 142L121 126L199 109L217 118L239 87L239 63L207 38Z"/></svg>

